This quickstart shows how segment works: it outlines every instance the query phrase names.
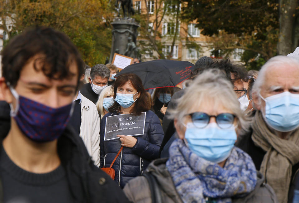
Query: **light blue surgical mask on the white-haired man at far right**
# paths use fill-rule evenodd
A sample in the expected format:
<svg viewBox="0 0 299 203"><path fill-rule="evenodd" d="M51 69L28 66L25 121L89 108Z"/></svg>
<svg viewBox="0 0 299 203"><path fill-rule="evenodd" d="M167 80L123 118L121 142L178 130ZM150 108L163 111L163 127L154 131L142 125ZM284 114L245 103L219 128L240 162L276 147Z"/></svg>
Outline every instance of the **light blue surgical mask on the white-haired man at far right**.
<svg viewBox="0 0 299 203"><path fill-rule="evenodd" d="M264 99L266 123L280 132L289 132L299 127L299 94L283 92Z"/></svg>

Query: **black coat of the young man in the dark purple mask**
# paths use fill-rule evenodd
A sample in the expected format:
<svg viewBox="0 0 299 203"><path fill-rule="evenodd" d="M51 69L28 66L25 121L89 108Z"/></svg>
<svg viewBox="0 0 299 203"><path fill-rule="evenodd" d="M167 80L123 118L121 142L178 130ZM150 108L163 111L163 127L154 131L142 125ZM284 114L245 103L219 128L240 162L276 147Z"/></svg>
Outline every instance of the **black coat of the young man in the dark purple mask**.
<svg viewBox="0 0 299 203"><path fill-rule="evenodd" d="M7 133L0 131L1 142L6 135ZM58 154L66 171L74 202L129 202L121 188L93 164L82 139L69 125L58 139ZM3 197L1 180L0 197ZM0 199L0 203L2 201Z"/></svg>

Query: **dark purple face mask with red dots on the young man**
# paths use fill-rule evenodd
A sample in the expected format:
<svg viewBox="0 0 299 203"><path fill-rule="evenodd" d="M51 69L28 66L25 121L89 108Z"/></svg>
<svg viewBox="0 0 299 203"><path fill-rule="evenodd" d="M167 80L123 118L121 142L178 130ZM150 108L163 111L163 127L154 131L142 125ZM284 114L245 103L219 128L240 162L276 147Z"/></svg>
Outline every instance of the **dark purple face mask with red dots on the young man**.
<svg viewBox="0 0 299 203"><path fill-rule="evenodd" d="M73 113L74 103L52 108L22 97L12 87L10 90L16 98L16 108L10 104L10 115L27 138L34 142L49 142L60 137Z"/></svg>

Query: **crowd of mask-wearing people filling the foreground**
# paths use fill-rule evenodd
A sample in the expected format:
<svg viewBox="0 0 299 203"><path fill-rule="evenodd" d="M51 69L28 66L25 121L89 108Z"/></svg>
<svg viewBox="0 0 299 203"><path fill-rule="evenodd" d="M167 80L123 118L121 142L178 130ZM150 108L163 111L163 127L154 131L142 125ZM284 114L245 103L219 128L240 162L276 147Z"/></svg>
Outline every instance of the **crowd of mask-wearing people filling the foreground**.
<svg viewBox="0 0 299 203"><path fill-rule="evenodd" d="M148 91L85 65L64 33L27 29L2 51L0 202L299 202L293 56L260 71L204 56ZM144 115L143 133L108 139L126 115Z"/></svg>

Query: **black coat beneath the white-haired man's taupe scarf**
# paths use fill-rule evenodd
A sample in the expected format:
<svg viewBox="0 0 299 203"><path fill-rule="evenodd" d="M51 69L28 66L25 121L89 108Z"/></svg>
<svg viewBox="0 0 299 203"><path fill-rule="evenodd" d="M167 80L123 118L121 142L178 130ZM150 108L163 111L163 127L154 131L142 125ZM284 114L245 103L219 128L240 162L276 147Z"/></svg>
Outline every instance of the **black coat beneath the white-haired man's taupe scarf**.
<svg viewBox="0 0 299 203"><path fill-rule="evenodd" d="M256 170L259 171L266 152L262 148L254 144L251 135L252 135L252 129L250 129L248 133L240 135L238 137L237 142L235 143L235 146L239 147L244 152L250 155L250 157L254 162ZM296 182L299 185L299 176L297 177L295 176L295 174L296 175L298 174L298 170L299 170L299 163L293 165L292 167L292 176L291 176L292 181L290 184L290 189L288 194L288 202L293 202L293 195L294 195Z"/></svg>

